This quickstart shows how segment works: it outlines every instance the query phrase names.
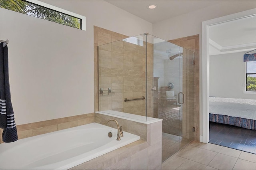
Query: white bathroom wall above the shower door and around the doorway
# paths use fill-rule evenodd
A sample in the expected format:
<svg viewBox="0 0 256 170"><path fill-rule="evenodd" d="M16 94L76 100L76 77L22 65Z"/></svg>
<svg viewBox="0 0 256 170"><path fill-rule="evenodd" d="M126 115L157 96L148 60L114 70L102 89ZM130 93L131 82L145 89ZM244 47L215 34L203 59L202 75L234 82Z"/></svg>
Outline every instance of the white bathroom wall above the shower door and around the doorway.
<svg viewBox="0 0 256 170"><path fill-rule="evenodd" d="M199 34L202 38L202 22L221 16L256 8L255 0L230 0L189 12L153 24L153 35L173 40ZM202 40L200 40L200 63L202 63ZM200 135L202 135L202 64L200 64Z"/></svg>

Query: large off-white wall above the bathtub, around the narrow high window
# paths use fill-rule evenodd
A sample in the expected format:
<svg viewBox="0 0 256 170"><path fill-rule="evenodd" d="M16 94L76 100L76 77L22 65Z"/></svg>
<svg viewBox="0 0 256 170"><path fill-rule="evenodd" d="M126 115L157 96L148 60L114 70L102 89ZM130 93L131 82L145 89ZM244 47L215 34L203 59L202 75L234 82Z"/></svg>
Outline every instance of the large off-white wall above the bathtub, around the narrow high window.
<svg viewBox="0 0 256 170"><path fill-rule="evenodd" d="M94 25L152 34L151 23L103 0L42 1L86 16L86 31L0 8L17 125L94 112Z"/></svg>

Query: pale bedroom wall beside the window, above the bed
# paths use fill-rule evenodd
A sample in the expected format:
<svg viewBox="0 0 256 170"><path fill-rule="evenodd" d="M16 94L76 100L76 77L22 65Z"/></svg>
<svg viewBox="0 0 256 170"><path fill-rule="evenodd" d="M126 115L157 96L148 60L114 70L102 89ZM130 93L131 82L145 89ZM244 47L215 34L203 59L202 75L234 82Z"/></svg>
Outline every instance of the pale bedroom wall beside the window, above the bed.
<svg viewBox="0 0 256 170"><path fill-rule="evenodd" d="M245 91L244 52L210 55L209 95L236 99L256 99Z"/></svg>

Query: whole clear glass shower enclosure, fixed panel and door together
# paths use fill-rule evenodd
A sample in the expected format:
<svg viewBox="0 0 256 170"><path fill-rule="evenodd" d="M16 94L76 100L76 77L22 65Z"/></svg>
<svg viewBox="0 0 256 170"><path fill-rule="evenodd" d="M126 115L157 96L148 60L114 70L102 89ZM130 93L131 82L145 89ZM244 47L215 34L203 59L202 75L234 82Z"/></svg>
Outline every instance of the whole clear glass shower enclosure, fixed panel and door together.
<svg viewBox="0 0 256 170"><path fill-rule="evenodd" d="M98 46L98 110L162 119L162 161L194 140L194 52L148 33Z"/></svg>

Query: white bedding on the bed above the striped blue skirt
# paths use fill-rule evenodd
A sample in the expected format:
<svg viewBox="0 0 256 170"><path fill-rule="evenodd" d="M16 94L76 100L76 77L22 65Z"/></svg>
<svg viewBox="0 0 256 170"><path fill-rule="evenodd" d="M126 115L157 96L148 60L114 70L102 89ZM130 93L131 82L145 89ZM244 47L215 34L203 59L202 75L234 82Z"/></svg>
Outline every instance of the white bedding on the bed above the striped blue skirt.
<svg viewBox="0 0 256 170"><path fill-rule="evenodd" d="M256 120L256 100L209 97L209 112Z"/></svg>

